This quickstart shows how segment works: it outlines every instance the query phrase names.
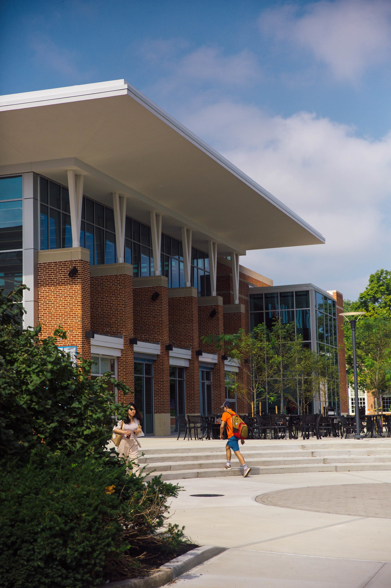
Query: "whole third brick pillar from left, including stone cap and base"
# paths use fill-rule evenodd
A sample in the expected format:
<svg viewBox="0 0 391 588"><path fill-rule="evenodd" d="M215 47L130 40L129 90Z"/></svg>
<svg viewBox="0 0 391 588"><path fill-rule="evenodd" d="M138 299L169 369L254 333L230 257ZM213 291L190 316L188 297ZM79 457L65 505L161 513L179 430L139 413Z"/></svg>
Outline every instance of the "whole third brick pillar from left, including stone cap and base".
<svg viewBox="0 0 391 588"><path fill-rule="evenodd" d="M159 292L159 298L151 299ZM168 280L164 276L134 278L133 332L140 341L160 343L154 362L154 434L171 435L169 403Z"/></svg>

